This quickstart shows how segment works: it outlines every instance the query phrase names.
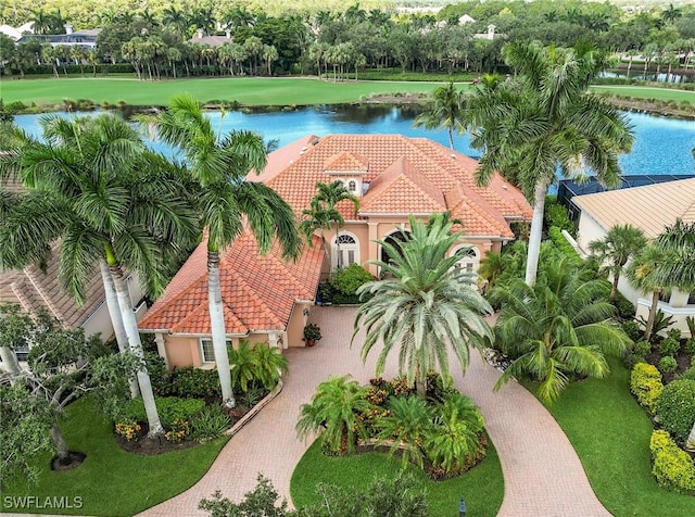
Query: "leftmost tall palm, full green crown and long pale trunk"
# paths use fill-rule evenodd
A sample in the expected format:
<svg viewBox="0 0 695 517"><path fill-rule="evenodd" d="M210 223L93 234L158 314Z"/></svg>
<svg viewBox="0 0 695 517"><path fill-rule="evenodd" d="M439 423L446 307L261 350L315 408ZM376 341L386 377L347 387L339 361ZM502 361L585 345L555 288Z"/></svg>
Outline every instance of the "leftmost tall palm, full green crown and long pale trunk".
<svg viewBox="0 0 695 517"><path fill-rule="evenodd" d="M181 198L187 186L119 117L47 116L42 125L46 141L25 135L0 156L2 177L17 174L28 189L0 225L2 262L40 263L58 242L59 277L78 301L99 268L119 348L142 357L124 269L137 272L149 293L163 290L165 258L195 235L194 214ZM144 366L137 379L149 433L156 436L163 429Z"/></svg>

